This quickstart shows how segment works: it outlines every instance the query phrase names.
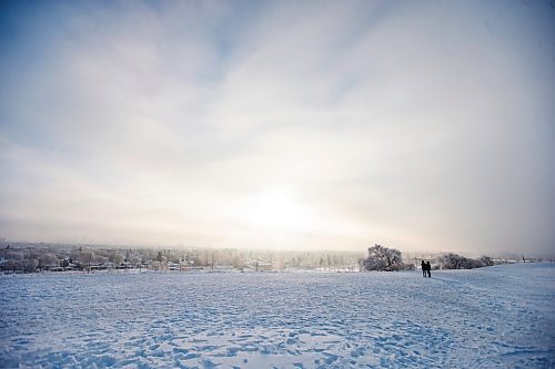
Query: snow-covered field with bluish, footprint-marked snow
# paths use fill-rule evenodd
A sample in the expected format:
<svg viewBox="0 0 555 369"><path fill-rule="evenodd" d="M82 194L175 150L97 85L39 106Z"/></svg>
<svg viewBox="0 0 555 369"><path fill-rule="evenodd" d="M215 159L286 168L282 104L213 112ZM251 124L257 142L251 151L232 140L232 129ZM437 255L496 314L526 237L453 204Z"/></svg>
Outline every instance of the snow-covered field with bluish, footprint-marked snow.
<svg viewBox="0 0 555 369"><path fill-rule="evenodd" d="M0 367L554 368L555 264L0 276Z"/></svg>

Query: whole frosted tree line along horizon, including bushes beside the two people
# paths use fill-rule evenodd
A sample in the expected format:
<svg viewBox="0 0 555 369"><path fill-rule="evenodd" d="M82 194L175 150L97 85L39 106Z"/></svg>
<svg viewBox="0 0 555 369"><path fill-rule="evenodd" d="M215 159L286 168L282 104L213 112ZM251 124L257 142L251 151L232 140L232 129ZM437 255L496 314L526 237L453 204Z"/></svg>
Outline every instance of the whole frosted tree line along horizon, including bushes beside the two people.
<svg viewBox="0 0 555 369"><path fill-rule="evenodd" d="M501 263L490 256L470 258L444 253L428 258L434 269L472 269ZM420 262L418 262L420 263ZM232 268L236 270L403 270L417 268L398 249L374 245L367 255L353 252L286 252L212 248L124 248L95 245L4 244L0 246L0 270L93 270L147 268L188 270Z"/></svg>

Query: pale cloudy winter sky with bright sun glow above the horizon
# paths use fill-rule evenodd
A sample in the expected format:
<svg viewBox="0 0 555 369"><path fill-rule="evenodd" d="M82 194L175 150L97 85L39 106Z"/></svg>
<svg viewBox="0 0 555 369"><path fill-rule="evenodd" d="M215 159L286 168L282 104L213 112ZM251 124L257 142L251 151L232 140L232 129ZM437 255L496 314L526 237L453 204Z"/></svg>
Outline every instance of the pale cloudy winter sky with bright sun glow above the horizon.
<svg viewBox="0 0 555 369"><path fill-rule="evenodd" d="M0 237L555 252L554 1L3 1Z"/></svg>

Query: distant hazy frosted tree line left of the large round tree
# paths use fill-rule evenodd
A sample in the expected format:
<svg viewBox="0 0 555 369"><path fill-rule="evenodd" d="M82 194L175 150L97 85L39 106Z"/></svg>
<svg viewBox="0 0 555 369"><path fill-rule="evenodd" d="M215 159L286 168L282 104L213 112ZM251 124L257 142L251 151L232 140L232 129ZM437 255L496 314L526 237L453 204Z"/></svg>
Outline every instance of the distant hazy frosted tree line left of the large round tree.
<svg viewBox="0 0 555 369"><path fill-rule="evenodd" d="M10 244L0 247L0 270L94 270L107 268L357 270L361 253L213 248L124 248L94 245Z"/></svg>

